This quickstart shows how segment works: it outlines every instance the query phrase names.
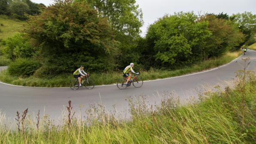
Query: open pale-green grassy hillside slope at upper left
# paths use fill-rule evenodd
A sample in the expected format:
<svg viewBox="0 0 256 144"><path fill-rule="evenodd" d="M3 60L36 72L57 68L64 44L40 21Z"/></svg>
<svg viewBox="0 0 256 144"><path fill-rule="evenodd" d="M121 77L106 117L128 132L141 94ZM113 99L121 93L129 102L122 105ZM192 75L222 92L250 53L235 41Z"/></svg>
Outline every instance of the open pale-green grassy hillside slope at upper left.
<svg viewBox="0 0 256 144"><path fill-rule="evenodd" d="M22 25L25 23L25 21L10 19L6 15L0 15L0 39L14 36L22 30Z"/></svg>

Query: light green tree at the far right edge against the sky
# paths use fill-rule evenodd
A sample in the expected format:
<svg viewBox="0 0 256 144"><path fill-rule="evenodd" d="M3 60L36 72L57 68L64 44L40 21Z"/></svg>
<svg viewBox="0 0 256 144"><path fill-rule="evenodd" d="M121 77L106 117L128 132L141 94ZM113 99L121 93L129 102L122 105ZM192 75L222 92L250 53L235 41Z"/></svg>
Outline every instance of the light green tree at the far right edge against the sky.
<svg viewBox="0 0 256 144"><path fill-rule="evenodd" d="M254 39L256 34L256 15L253 15L251 12L244 12L234 14L230 19L245 34L245 41L241 45L244 45L249 39ZM250 43L247 43L247 45L250 45Z"/></svg>

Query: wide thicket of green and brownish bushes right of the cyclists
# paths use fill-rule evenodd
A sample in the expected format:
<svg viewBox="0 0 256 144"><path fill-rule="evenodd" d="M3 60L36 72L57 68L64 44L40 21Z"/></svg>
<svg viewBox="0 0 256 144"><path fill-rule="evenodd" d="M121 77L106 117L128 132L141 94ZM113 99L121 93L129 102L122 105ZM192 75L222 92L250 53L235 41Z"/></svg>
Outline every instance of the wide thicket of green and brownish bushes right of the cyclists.
<svg viewBox="0 0 256 144"><path fill-rule="evenodd" d="M174 68L220 56L244 42L244 35L226 15L217 16L179 12L159 18L139 42L140 61L146 69Z"/></svg>

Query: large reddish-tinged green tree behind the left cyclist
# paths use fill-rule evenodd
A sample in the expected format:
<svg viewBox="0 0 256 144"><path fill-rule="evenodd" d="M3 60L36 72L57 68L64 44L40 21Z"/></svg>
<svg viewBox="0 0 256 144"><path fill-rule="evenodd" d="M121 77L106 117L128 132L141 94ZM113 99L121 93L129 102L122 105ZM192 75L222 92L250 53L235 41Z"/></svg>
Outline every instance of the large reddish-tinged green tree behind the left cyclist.
<svg viewBox="0 0 256 144"><path fill-rule="evenodd" d="M72 72L81 63L92 71L114 67L117 49L111 25L86 3L56 0L40 15L30 16L25 32L42 48L45 73Z"/></svg>

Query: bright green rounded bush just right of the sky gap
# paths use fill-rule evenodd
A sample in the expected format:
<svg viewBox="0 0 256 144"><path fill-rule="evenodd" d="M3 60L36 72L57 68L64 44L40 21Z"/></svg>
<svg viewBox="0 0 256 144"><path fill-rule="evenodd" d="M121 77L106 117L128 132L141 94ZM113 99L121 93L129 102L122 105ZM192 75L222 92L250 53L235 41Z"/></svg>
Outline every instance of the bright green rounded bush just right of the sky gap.
<svg viewBox="0 0 256 144"><path fill-rule="evenodd" d="M197 16L193 13L179 12L165 15L151 24L146 41L155 60L170 66L173 63L200 60L204 41L210 34L208 22L197 21Z"/></svg>

